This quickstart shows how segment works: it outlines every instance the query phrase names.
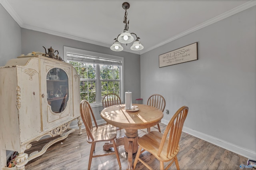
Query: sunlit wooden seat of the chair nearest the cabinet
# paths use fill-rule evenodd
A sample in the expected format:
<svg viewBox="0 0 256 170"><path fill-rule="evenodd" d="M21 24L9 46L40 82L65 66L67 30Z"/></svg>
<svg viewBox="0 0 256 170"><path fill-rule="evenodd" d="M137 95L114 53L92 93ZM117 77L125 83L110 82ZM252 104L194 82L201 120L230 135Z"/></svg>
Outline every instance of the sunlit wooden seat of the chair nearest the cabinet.
<svg viewBox="0 0 256 170"><path fill-rule="evenodd" d="M87 138L88 143L113 140L116 138L116 127L112 125L94 127L92 129L92 136L94 141L91 138Z"/></svg>

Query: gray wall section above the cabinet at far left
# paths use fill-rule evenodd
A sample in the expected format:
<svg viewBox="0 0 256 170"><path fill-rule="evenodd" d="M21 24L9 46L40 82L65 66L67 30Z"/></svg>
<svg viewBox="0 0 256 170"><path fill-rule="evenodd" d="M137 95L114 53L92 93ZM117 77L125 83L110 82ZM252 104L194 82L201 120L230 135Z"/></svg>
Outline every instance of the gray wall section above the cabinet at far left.
<svg viewBox="0 0 256 170"><path fill-rule="evenodd" d="M21 53L20 26L0 4L0 66Z"/></svg>

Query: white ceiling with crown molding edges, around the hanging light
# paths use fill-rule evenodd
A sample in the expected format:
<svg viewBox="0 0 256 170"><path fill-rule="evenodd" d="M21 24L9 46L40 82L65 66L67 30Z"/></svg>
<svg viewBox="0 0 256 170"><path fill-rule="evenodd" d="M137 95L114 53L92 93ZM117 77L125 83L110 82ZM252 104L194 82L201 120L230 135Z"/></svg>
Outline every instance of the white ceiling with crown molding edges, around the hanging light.
<svg viewBox="0 0 256 170"><path fill-rule="evenodd" d="M256 0L0 0L21 28L110 47L124 30L122 3L130 3L129 32L142 54L256 5ZM118 53L118 52L117 52Z"/></svg>

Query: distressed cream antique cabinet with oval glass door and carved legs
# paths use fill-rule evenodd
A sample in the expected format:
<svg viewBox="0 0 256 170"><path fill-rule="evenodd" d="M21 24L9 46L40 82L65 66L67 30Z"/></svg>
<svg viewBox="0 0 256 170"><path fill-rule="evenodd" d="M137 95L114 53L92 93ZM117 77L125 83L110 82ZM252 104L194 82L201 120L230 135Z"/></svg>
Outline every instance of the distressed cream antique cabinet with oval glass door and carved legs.
<svg viewBox="0 0 256 170"><path fill-rule="evenodd" d="M41 55L17 57L0 68L0 156L6 166L6 150L19 152L16 169L68 136L69 125L80 120L80 79L69 63ZM57 136L43 150L26 154L31 142ZM5 169L5 168L4 168Z"/></svg>

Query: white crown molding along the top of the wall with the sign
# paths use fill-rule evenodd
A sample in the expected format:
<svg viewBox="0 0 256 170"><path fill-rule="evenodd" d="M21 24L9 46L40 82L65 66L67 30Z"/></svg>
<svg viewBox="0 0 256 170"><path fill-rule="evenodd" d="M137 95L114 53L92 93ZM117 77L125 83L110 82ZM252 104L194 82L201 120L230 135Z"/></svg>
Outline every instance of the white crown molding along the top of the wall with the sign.
<svg viewBox="0 0 256 170"><path fill-rule="evenodd" d="M244 3L244 4L240 5L240 6L238 6L238 7L234 8L234 9L232 9L232 10L229 10L229 11L223 13L223 14L220 14L219 16L216 16L216 17L214 17L214 18L212 18L212 19L210 19L210 20L208 20L208 21L206 21L206 22L203 22L202 24L199 24L198 26L195 26L195 27L193 27L193 28L191 28L191 29L189 29L189 30L186 30L186 31L184 31L184 32L182 32L182 33L180 33L180 34L177 34L176 36L173 36L172 38L169 38L169 39L167 39L167 40L165 40L165 41L163 41L163 42L161 42L161 43L158 43L158 44L156 44L156 45L154 45L154 46L152 46L152 47L150 47L150 48L142 49L142 50L140 51L140 54L146 53L146 52L148 52L148 51L150 51L150 50L152 50L152 49L155 49L155 48L157 48L157 47L160 47L161 45L164 45L164 44L166 44L166 43L172 42L172 41L174 41L174 40L176 40L176 39L178 39L178 38L181 38L181 37L186 36L186 35L188 35L188 34L190 34L190 33L192 33L192 32L195 32L195 31L197 31L197 30L200 30L201 28L204 28L204 27L206 27L206 26L209 26L209 25L211 25L211 24L214 24L215 22L218 22L218 21L220 21L220 20L223 20L223 19L225 19L225 18L228 18L229 16L232 16L232 15L234 15L234 14L237 14L238 12L241 12L241 11L243 11L243 10L246 10L246 9L248 9L248 8L251 8L252 6L255 6L255 5L256 5L256 0L251 0L251 1L249 1L249 2L246 2L246 3Z"/></svg>

